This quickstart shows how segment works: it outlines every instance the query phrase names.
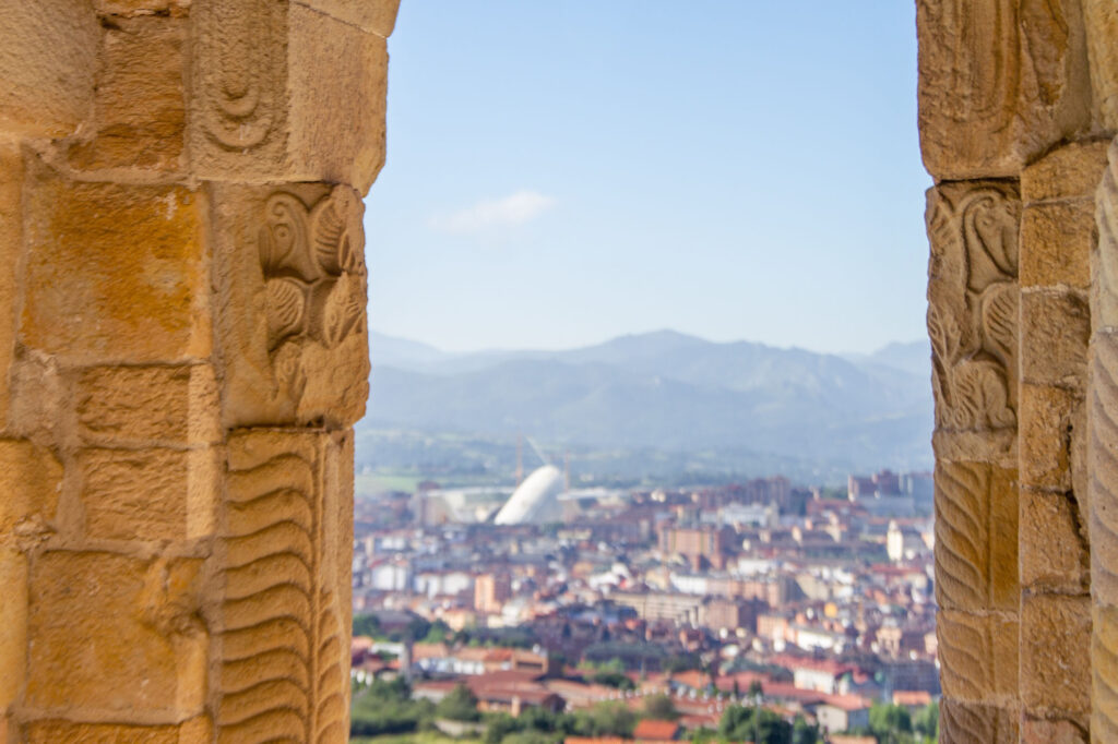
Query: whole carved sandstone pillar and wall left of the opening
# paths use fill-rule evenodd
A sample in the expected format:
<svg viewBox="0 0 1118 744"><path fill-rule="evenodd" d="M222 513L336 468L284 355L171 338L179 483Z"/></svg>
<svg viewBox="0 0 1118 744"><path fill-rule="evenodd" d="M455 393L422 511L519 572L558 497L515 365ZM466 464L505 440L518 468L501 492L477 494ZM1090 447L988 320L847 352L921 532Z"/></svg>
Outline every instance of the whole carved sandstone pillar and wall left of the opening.
<svg viewBox="0 0 1118 744"><path fill-rule="evenodd" d="M0 742L344 742L398 0L0 0Z"/></svg>

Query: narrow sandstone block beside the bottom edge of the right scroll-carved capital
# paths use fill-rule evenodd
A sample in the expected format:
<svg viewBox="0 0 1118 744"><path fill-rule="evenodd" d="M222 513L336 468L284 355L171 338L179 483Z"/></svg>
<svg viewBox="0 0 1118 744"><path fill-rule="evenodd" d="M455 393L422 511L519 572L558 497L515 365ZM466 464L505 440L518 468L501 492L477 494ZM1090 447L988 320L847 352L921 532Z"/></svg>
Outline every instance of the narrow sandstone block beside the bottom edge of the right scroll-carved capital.
<svg viewBox="0 0 1118 744"><path fill-rule="evenodd" d="M1086 437L1072 422L1082 399L1063 388L1022 383L1021 483L1039 488L1071 489L1071 440Z"/></svg>

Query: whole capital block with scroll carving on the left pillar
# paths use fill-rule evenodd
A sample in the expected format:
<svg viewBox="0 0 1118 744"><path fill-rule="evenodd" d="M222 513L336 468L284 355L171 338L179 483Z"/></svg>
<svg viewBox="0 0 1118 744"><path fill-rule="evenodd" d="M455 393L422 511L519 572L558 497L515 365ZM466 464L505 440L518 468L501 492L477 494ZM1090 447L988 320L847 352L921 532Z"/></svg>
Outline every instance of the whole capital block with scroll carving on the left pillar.
<svg viewBox="0 0 1118 744"><path fill-rule="evenodd" d="M214 187L226 427L351 426L369 392L362 207L347 187Z"/></svg>

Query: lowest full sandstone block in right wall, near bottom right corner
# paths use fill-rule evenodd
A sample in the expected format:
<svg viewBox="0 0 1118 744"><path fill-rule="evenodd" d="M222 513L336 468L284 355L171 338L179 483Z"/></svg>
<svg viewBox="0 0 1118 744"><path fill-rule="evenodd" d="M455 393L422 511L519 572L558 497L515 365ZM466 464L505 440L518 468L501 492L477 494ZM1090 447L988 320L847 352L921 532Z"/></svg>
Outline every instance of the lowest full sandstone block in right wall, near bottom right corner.
<svg viewBox="0 0 1118 744"><path fill-rule="evenodd" d="M1090 714L1091 601L1024 595L1021 602L1021 699L1032 710Z"/></svg>

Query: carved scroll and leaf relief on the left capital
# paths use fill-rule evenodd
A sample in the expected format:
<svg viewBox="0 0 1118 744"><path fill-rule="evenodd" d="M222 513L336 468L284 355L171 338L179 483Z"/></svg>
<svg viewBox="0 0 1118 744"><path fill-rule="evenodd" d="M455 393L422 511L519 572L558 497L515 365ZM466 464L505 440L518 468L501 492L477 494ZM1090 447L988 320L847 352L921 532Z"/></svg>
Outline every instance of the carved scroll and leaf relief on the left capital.
<svg viewBox="0 0 1118 744"><path fill-rule="evenodd" d="M258 249L267 313L267 347L280 384L303 394L304 345L334 349L364 330L366 268L360 209L351 189L335 187L313 207L273 194Z"/></svg>

